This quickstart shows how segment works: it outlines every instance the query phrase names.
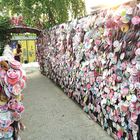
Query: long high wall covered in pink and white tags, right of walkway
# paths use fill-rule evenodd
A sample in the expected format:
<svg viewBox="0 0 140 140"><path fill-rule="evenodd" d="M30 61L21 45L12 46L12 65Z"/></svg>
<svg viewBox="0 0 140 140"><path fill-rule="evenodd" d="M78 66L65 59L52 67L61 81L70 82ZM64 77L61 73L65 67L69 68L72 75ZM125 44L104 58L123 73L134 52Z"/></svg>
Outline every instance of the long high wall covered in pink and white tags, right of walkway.
<svg viewBox="0 0 140 140"><path fill-rule="evenodd" d="M140 139L140 5L44 31L41 72L117 140Z"/></svg>

